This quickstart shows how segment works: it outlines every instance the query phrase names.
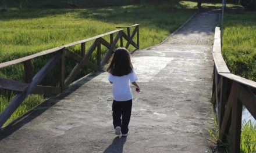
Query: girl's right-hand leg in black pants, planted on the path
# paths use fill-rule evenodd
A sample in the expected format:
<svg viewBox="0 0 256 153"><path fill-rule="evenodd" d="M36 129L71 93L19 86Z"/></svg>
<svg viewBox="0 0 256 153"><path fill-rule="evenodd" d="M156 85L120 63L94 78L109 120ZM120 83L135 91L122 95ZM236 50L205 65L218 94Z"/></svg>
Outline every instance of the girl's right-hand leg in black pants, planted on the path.
<svg viewBox="0 0 256 153"><path fill-rule="evenodd" d="M130 122L131 118L131 105L132 105L132 100L128 101L122 101L122 134L127 134L128 133L128 125Z"/></svg>

